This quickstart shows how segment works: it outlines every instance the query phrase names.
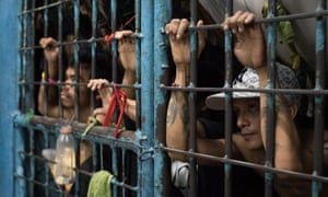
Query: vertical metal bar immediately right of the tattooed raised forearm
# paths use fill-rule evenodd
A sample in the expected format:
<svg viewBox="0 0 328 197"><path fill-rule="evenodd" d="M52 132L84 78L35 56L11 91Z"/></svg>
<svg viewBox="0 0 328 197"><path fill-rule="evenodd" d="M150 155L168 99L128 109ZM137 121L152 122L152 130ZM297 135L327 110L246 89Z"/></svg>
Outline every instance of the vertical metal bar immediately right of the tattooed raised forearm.
<svg viewBox="0 0 328 197"><path fill-rule="evenodd" d="M190 1L190 26L197 25L197 1L191 0ZM197 86L197 58L198 58L198 51L197 51L197 31L190 31L190 81L188 86L195 88ZM189 103L189 150L196 151L196 92L189 92L188 94L188 103ZM190 176L189 176L189 196L196 196L197 195L197 171L196 171L196 159L190 157L189 158L190 163Z"/></svg>

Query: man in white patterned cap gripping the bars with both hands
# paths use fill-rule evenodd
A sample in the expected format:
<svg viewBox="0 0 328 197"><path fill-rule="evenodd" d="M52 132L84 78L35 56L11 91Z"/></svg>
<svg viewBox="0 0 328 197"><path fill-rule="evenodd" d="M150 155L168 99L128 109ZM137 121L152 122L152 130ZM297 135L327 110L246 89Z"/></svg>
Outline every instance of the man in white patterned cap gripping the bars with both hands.
<svg viewBox="0 0 328 197"><path fill-rule="evenodd" d="M266 111L267 95L256 92L267 85L267 59L265 38L259 25L253 24L256 16L250 12L236 12L224 22L224 30L232 31L235 36L234 54L246 67L233 88L244 89L233 92L233 109L239 131L233 135L232 158L265 165L266 162ZM200 21L198 25L201 25ZM190 46L186 33L187 20L172 20L166 25L169 35L174 61L176 62L176 86L187 86L189 83ZM204 33L199 32L198 51L204 45ZM277 65L277 88L300 89L297 79L288 67ZM250 90L247 92L247 89ZM245 91L246 90L246 91ZM207 106L224 109L224 93L211 95L207 99ZM274 167L293 172L312 173L313 170L313 130L298 128L294 118L297 115L300 96L296 94L279 93L276 100L276 141ZM172 91L167 107L166 143L167 147L187 150L190 123L188 116L188 94L184 91ZM301 130L303 129L303 130ZM201 123L197 123L197 134L206 132ZM325 135L327 139L327 134ZM197 152L215 157L225 155L225 140L211 140L197 136ZM168 152L175 160L187 160L177 152ZM198 164L222 164L198 158ZM263 175L262 171L257 171ZM286 174L274 174L274 190L279 196L311 196L311 181L290 177ZM256 188L256 186L255 186ZM324 189L327 187L323 187Z"/></svg>

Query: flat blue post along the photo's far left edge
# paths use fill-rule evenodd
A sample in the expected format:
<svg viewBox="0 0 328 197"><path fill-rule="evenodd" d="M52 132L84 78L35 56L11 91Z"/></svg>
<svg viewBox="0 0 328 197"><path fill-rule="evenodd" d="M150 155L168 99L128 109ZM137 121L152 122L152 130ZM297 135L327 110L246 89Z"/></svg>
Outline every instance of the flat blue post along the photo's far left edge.
<svg viewBox="0 0 328 197"><path fill-rule="evenodd" d="M20 10L17 0L0 1L0 190L1 196L13 196L13 134L14 127L12 116L17 108L19 85L19 24L17 11ZM10 9L9 9L10 8ZM19 188L17 188L19 189ZM24 194L23 192L21 193Z"/></svg>

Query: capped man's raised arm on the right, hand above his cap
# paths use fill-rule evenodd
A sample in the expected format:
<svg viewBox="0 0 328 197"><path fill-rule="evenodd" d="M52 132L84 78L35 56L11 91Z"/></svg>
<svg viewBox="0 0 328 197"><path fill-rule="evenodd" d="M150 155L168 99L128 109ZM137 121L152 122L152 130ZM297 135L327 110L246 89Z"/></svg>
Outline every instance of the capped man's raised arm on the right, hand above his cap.
<svg viewBox="0 0 328 197"><path fill-rule="evenodd" d="M259 76L260 88L267 85L266 45L259 25L251 24L256 16L249 12L236 12L232 18L225 20L225 30L231 30L235 35L234 53L238 60L246 67L255 69ZM278 81L278 80L276 80ZM278 84L279 86L279 84ZM267 127L267 96L260 95L260 125L261 137L266 148ZM283 100L276 96L277 125L276 125L276 158L274 164L278 169L300 171L302 169L300 159L300 137L293 121L292 113Z"/></svg>

